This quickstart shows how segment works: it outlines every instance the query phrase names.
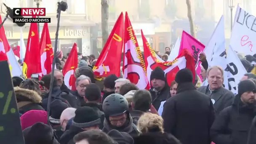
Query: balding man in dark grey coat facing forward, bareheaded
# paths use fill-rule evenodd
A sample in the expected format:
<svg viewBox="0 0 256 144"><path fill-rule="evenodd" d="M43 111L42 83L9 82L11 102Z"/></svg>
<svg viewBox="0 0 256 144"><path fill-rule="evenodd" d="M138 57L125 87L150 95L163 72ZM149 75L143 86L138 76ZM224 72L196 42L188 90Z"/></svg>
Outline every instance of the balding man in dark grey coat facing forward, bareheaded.
<svg viewBox="0 0 256 144"><path fill-rule="evenodd" d="M234 93L223 87L223 75L224 72L221 67L210 67L207 69L209 85L201 86L197 89L197 91L205 93L211 98L216 114L219 114L222 109L229 107L235 98Z"/></svg>

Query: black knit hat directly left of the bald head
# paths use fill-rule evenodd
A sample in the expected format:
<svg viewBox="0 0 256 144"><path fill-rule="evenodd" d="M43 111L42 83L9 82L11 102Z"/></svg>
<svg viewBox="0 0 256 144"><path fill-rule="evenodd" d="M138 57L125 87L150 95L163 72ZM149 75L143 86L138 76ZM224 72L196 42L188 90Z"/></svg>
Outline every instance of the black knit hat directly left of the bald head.
<svg viewBox="0 0 256 144"><path fill-rule="evenodd" d="M62 102L59 99L55 99L54 101L51 102L51 116L49 117L49 120L51 123L55 123L55 124L60 124L60 117L61 117L61 113L67 109L69 106Z"/></svg>

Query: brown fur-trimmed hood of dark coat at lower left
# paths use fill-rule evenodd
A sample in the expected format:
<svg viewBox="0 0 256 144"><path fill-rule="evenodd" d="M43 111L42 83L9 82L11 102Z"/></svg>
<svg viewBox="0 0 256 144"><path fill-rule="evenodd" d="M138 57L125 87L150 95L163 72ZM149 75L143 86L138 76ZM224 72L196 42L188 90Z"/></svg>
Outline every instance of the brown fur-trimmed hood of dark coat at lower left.
<svg viewBox="0 0 256 144"><path fill-rule="evenodd" d="M30 110L44 110L41 106L42 98L36 91L15 87L14 92L19 113L24 114Z"/></svg>

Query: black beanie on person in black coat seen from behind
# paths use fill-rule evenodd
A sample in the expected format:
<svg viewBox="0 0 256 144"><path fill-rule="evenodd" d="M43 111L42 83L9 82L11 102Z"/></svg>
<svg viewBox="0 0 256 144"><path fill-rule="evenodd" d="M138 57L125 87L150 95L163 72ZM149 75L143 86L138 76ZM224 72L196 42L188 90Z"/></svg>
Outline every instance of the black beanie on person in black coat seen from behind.
<svg viewBox="0 0 256 144"><path fill-rule="evenodd" d="M191 70L187 68L179 70L175 76L175 82L178 84L193 83L193 74Z"/></svg>

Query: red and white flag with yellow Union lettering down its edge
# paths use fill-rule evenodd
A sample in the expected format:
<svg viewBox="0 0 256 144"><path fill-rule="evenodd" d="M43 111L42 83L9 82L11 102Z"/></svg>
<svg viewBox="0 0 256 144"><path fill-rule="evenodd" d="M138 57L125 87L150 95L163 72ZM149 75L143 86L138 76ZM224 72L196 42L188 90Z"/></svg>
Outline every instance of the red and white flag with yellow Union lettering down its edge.
<svg viewBox="0 0 256 144"><path fill-rule="evenodd" d="M150 85L147 78L147 68L127 12L125 13L124 43L124 78L136 84L140 89L149 90Z"/></svg>

